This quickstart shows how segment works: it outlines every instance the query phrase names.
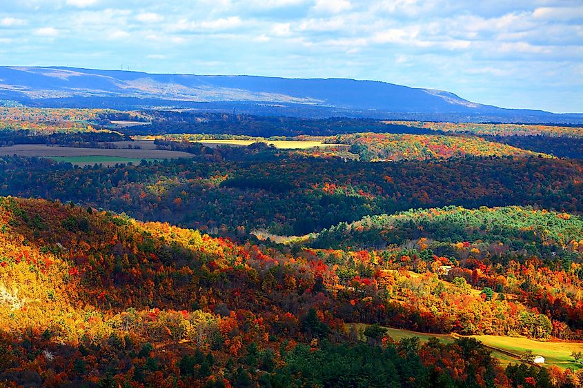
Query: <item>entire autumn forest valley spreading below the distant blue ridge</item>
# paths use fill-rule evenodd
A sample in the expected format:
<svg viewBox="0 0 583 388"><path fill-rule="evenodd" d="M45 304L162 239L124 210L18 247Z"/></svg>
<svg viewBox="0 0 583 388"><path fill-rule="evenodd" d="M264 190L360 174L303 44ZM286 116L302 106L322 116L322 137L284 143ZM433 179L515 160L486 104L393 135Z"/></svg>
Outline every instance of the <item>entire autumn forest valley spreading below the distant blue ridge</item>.
<svg viewBox="0 0 583 388"><path fill-rule="evenodd" d="M2 387L583 385L580 127L5 105Z"/></svg>

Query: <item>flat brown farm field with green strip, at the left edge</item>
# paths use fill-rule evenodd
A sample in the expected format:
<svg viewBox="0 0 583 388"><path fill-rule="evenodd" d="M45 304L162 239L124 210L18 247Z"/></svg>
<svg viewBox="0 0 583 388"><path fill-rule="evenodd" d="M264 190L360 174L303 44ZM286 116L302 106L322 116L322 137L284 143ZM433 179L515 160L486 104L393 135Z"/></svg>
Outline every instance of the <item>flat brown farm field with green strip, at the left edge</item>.
<svg viewBox="0 0 583 388"><path fill-rule="evenodd" d="M133 143L133 142L132 142ZM135 144L140 145L140 144ZM140 145L141 146L141 145ZM127 163L128 161L141 161L141 159L177 159L191 158L192 154L179 151L155 150L152 148L142 148L141 150L128 150L126 148L75 148L59 147L40 144L19 144L10 147L0 147L1 155L19 156L39 156L44 158L65 158L74 163L71 158L83 157L75 164L88 165L103 163L104 165L115 165L115 163ZM106 158L106 159L103 159ZM122 159L124 159L122 161Z"/></svg>

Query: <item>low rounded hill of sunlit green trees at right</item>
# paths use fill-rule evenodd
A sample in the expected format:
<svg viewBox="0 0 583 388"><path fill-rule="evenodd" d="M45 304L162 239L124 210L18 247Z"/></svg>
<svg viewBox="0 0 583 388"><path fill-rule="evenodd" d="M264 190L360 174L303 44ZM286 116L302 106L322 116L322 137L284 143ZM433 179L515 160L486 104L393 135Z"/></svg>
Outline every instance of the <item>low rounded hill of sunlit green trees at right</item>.
<svg viewBox="0 0 583 388"><path fill-rule="evenodd" d="M408 210L393 215L366 216L323 230L312 245L322 248L370 249L405 245L425 238L436 245L479 241L501 243L499 251L557 260L562 254L583 249L583 219L571 214L534 210L532 207L480 207L469 210L450 206ZM524 249L524 252L520 252ZM569 250L571 249L571 250ZM499 252L499 253L500 253Z"/></svg>

